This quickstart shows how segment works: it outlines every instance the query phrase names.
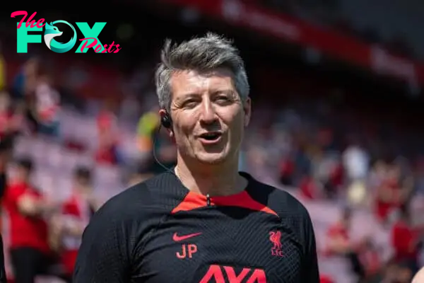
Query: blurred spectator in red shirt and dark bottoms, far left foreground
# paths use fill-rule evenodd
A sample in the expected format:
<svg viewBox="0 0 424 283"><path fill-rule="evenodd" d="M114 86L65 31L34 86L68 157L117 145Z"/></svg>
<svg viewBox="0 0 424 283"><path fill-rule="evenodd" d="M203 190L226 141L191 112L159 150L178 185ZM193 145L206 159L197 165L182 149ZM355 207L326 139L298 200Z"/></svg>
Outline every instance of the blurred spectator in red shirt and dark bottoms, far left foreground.
<svg viewBox="0 0 424 283"><path fill-rule="evenodd" d="M16 283L34 282L35 276L47 273L52 262L47 223L43 214L54 205L30 184L33 163L18 161L16 179L8 185L4 207L10 227L10 255Z"/></svg>

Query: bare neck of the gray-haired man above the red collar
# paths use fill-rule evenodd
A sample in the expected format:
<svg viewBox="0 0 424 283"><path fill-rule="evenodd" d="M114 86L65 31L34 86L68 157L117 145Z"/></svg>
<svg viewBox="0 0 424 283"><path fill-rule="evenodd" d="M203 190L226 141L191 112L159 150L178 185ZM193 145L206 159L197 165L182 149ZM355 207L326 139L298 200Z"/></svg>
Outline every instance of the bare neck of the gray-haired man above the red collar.
<svg viewBox="0 0 424 283"><path fill-rule="evenodd" d="M234 195L247 185L247 180L238 173L237 161L217 165L194 163L189 166L178 156L175 174L190 191L211 197Z"/></svg>

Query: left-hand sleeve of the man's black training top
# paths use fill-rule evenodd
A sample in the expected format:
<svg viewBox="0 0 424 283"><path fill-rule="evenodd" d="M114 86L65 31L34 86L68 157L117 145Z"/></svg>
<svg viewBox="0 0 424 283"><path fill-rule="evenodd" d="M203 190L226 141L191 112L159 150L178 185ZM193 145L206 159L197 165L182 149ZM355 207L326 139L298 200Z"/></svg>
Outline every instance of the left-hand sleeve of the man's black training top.
<svg viewBox="0 0 424 283"><path fill-rule="evenodd" d="M73 282L129 282L129 226L122 218L110 203L94 214L83 233Z"/></svg>

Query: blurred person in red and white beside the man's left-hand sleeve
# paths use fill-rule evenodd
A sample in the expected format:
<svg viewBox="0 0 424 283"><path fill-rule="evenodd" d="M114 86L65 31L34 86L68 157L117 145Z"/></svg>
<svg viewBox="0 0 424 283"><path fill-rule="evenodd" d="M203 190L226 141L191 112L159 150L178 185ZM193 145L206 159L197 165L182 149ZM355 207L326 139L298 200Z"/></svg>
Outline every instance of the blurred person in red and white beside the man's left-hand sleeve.
<svg viewBox="0 0 424 283"><path fill-rule="evenodd" d="M93 195L93 180L90 169L78 167L74 172L71 196L65 200L59 217L61 223L61 262L64 265L66 281L72 282L81 237L91 216L98 210L99 203Z"/></svg>

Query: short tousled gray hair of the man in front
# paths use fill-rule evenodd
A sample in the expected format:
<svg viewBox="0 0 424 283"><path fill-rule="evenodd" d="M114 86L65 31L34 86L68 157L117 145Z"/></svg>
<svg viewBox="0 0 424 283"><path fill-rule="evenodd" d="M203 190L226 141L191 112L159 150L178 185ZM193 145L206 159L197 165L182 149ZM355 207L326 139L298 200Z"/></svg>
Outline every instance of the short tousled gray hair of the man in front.
<svg viewBox="0 0 424 283"><path fill-rule="evenodd" d="M249 96L245 63L232 41L224 37L207 33L204 37L196 37L179 45L172 45L171 40L166 40L160 59L155 74L156 93L160 108L167 111L170 111L172 100L170 79L174 71L191 69L207 72L225 67L234 74L235 89L240 99L245 101Z"/></svg>

